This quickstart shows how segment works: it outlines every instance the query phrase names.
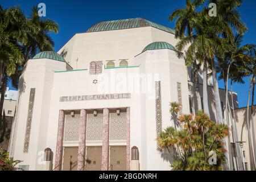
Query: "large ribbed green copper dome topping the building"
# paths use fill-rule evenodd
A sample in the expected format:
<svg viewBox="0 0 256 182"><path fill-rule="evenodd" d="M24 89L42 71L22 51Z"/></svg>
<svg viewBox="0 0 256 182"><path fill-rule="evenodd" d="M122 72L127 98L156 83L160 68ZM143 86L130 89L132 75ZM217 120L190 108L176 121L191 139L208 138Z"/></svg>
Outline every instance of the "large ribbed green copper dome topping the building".
<svg viewBox="0 0 256 182"><path fill-rule="evenodd" d="M155 27L160 30L175 34L175 31L171 28L162 26L160 24L150 22L149 20L143 18L130 18L121 20L110 20L105 22L100 22L90 27L86 32L98 32L98 31L108 31L108 30L121 30L126 28L138 28L138 27Z"/></svg>

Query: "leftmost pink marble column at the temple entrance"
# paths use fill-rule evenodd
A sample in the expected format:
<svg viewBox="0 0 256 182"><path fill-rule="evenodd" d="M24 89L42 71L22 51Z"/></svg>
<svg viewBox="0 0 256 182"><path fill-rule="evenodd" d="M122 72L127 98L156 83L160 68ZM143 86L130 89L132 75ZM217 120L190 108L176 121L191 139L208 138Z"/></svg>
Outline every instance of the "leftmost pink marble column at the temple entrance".
<svg viewBox="0 0 256 182"><path fill-rule="evenodd" d="M64 110L60 110L58 131L57 131L56 154L55 154L55 171L60 171L62 166L63 135L64 135Z"/></svg>

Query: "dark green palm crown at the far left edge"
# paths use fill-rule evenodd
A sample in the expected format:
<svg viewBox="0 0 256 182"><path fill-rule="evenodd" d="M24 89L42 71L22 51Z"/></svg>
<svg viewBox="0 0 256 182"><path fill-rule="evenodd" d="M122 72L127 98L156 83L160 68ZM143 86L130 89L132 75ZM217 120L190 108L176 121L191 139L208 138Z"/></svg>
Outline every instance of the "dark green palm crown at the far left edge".
<svg viewBox="0 0 256 182"><path fill-rule="evenodd" d="M0 86L4 71L10 76L15 65L23 62L21 44L27 43L26 17L19 7L3 9L0 6Z"/></svg>

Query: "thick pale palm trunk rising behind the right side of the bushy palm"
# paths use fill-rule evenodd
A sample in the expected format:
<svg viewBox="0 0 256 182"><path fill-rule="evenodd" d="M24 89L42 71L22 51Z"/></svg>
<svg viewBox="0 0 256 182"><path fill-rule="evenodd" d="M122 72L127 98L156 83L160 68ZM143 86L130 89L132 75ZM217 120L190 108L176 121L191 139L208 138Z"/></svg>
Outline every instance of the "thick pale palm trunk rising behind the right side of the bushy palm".
<svg viewBox="0 0 256 182"><path fill-rule="evenodd" d="M220 102L220 93L218 92L218 80L217 80L217 71L216 65L214 60L212 59L212 73L213 73L213 90L214 90L214 101L216 107L216 122L223 123L222 117L222 109L221 109L221 102Z"/></svg>

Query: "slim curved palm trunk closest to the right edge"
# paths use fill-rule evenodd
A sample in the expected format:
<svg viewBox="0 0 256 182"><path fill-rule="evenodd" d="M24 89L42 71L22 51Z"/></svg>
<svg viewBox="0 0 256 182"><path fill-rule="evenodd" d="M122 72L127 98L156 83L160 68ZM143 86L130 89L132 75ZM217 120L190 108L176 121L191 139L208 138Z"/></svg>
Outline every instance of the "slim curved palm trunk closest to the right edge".
<svg viewBox="0 0 256 182"><path fill-rule="evenodd" d="M250 130L250 118L249 118L249 104L250 104L251 86L252 85L253 85L253 82L250 81L250 88L249 88L249 94L248 94L248 99L247 99L246 126L247 126L247 135L248 135L251 169L254 171L255 170L255 165L254 165L253 147L251 146L251 133L250 133L251 130Z"/></svg>

